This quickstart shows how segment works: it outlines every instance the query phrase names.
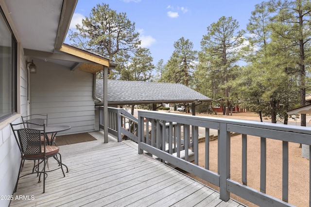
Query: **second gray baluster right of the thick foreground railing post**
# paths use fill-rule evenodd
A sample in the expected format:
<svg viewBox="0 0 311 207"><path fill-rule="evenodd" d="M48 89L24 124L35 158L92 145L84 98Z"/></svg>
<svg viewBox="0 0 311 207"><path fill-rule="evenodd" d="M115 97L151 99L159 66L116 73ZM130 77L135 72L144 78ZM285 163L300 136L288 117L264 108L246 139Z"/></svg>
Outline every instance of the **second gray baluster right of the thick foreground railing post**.
<svg viewBox="0 0 311 207"><path fill-rule="evenodd" d="M260 192L266 193L267 140L260 137Z"/></svg>

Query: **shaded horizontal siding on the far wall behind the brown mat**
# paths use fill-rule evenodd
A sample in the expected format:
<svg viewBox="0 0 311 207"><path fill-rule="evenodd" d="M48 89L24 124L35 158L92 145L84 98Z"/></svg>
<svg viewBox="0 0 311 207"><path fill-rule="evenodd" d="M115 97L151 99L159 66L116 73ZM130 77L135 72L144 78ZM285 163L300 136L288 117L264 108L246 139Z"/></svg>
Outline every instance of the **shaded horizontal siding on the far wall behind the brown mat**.
<svg viewBox="0 0 311 207"><path fill-rule="evenodd" d="M34 60L30 74L31 113L48 114L48 125L68 125L59 134L94 131L93 74L58 64Z"/></svg>

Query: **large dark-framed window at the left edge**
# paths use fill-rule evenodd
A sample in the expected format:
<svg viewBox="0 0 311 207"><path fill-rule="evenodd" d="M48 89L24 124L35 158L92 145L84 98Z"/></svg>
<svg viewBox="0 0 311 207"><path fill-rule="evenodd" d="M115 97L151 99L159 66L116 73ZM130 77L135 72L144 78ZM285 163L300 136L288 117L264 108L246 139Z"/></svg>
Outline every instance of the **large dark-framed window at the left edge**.
<svg viewBox="0 0 311 207"><path fill-rule="evenodd" d="M0 121L17 112L17 41L0 8Z"/></svg>

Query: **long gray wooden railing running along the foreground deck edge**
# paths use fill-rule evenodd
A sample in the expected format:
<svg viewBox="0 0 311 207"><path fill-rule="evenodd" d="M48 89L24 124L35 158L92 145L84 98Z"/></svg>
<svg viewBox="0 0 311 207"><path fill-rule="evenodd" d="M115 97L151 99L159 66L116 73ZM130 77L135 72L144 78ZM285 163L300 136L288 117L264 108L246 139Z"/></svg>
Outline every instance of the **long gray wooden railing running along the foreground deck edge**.
<svg viewBox="0 0 311 207"><path fill-rule="evenodd" d="M151 123L151 126L146 126L149 123ZM161 127L159 127L160 123L169 126L168 130L161 130ZM205 168L198 166L199 127L205 128ZM217 173L209 170L208 138L210 129L218 130ZM242 180L240 182L230 179L230 132L242 134ZM260 137L260 155L258 155L260 157L260 191L246 186L248 135ZM184 142L181 142L182 136ZM192 175L196 175L220 187L220 198L224 201L229 200L231 192L259 206L292 206L288 203L288 143L311 145L311 129L308 127L284 126L243 120L197 117L156 111L138 111L138 138L139 154L146 151L163 161L169 162ZM177 139L176 143L173 142L174 138ZM265 193L267 138L283 142L282 200ZM190 142L193 142L194 163L179 157L180 152L184 148L190 147ZM167 149L167 145L169 145L169 149ZM173 148L176 150L177 156L172 155ZM185 150L185 153L185 157L187 157L188 150Z"/></svg>

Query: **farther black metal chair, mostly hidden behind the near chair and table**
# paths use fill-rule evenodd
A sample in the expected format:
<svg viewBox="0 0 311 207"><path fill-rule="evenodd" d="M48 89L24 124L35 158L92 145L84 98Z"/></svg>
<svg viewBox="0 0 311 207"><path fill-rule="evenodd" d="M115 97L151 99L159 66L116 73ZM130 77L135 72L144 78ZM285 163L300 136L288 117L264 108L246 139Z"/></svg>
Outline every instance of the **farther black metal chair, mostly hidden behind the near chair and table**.
<svg viewBox="0 0 311 207"><path fill-rule="evenodd" d="M48 114L32 114L29 116L22 116L21 117L22 122L25 123L24 127L27 128L36 128L37 125L43 125L48 126ZM52 135L47 134L46 136L41 135L41 142L43 143L44 137L48 139L49 141L47 143L50 143L51 145L54 143L55 146L57 144L55 143L56 137L53 139L53 143L51 142L52 140Z"/></svg>

